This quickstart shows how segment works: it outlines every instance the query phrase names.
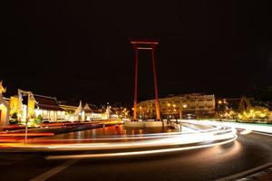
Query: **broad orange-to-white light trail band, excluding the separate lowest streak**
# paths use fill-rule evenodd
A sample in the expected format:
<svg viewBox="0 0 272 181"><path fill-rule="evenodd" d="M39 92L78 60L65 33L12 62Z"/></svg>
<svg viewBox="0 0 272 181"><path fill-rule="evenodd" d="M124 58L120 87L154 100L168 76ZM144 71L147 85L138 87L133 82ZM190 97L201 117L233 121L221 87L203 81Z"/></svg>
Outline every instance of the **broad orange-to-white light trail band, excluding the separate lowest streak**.
<svg viewBox="0 0 272 181"><path fill-rule="evenodd" d="M202 144L211 142L222 142L236 138L236 129L232 128L212 128L198 130L194 133L160 133L144 134L121 138L91 138L90 140L102 141L98 143L55 143L53 141L45 143L28 142L23 143L3 143L0 148L3 150L15 151L71 151L71 150L118 150L131 148L159 148L179 146L186 148L189 144ZM36 139L41 141L40 139ZM44 140L44 139L42 139ZM58 139L57 141L59 141ZM81 139L80 139L81 140ZM85 139L82 139L85 140ZM112 141L112 142L109 142ZM70 140L71 141L71 140ZM78 142L79 139L76 139ZM86 141L86 140L85 140ZM116 142L119 141L119 142ZM198 146L199 148L199 146Z"/></svg>

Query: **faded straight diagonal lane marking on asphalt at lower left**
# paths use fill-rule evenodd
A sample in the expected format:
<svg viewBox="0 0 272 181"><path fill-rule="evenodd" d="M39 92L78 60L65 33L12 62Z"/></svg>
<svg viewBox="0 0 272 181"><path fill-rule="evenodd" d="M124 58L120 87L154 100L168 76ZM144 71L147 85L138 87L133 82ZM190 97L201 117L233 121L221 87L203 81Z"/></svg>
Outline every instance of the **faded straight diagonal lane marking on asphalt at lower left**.
<svg viewBox="0 0 272 181"><path fill-rule="evenodd" d="M72 166L77 161L79 161L79 159L70 159L68 161L65 161L63 164L61 164L61 165L59 165L57 167L53 167L51 170L49 170L47 172L44 172L44 174L41 174L39 176L34 177L30 181L44 181L44 180L47 180L48 178L60 173L61 171L63 171L67 167Z"/></svg>

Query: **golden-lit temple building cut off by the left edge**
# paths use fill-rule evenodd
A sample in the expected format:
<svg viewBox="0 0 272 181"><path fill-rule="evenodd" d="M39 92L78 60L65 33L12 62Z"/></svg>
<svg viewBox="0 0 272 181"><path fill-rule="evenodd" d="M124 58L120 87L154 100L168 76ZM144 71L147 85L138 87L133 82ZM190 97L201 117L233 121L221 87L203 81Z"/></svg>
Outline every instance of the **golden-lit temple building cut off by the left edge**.
<svg viewBox="0 0 272 181"><path fill-rule="evenodd" d="M3 93L5 93L6 89L2 83L3 81L0 81L0 129L2 126L9 124L9 105L3 97Z"/></svg>

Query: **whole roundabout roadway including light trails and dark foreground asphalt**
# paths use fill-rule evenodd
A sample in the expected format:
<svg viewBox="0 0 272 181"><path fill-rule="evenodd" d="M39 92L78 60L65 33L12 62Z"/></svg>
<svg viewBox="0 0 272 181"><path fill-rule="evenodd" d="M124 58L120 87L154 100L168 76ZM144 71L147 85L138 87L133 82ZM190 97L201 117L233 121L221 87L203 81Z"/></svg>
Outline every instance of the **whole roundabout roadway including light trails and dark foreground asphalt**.
<svg viewBox="0 0 272 181"><path fill-rule="evenodd" d="M256 172L255 167L267 167L272 161L269 133L236 130L241 126L208 120L178 123L181 131L119 125L30 138L27 144L5 142L1 163L15 165L10 165L13 169L7 169L4 179L16 170L16 176L24 175L24 180L65 180L67 176L72 180L85 176L145 180L151 173L158 180L216 180ZM25 172L24 167L32 172ZM105 173L110 177L103 177Z"/></svg>

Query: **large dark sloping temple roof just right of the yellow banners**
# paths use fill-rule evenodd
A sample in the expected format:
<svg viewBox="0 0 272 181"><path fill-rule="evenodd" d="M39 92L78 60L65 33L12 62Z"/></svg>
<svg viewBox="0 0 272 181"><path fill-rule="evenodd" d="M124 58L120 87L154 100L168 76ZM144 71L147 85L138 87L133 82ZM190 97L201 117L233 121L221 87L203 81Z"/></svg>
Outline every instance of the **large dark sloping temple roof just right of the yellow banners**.
<svg viewBox="0 0 272 181"><path fill-rule="evenodd" d="M55 98L34 94L34 99L37 102L38 108L41 110L63 111Z"/></svg>

